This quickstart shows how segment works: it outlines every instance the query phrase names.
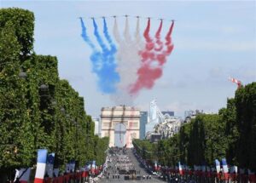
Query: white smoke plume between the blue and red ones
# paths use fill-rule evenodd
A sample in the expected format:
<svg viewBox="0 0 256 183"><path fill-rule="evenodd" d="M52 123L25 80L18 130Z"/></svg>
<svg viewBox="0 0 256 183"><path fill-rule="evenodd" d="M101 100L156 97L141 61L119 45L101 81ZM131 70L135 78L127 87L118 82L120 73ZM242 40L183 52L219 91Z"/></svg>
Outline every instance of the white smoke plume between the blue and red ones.
<svg viewBox="0 0 256 183"><path fill-rule="evenodd" d="M118 95L115 97L119 104L131 104L132 94L129 94L131 83L137 80L137 69L140 67L141 57L138 51L143 48L140 36L140 24L137 19L136 33L131 38L129 20L125 19L124 39L120 38L117 20L114 20L113 36L119 43L117 52L118 67L120 80L117 85Z"/></svg>

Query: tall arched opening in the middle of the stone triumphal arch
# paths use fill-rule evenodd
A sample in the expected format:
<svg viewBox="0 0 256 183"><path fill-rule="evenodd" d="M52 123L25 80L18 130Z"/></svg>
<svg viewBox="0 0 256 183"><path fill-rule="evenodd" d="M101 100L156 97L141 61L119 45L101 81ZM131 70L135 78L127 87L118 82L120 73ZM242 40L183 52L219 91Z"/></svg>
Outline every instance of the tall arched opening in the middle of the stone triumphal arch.
<svg viewBox="0 0 256 183"><path fill-rule="evenodd" d="M126 127L124 123L114 126L114 146L123 147L126 144Z"/></svg>

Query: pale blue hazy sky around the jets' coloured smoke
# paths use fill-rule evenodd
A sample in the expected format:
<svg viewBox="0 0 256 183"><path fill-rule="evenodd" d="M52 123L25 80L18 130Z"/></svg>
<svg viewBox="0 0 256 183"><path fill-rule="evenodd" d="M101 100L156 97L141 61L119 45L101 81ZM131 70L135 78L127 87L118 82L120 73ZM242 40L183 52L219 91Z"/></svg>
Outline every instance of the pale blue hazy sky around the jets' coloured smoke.
<svg viewBox="0 0 256 183"><path fill-rule="evenodd" d="M142 111L156 99L162 111L174 111L183 117L184 111L200 109L218 112L227 98L235 96L235 77L243 84L256 81L256 2L255 1L0 1L1 8L29 9L35 15L34 50L50 54L59 60L59 74L84 97L85 110L99 117L102 106L116 104L103 94L92 72L91 50L81 37L79 17L84 18L88 34L93 37L90 17L121 15L152 17L156 31L164 21L167 31L176 20L172 32L174 49L164 66L163 76L153 89L143 89L133 101ZM131 31L136 19L129 18ZM102 27L101 21L96 20ZM113 28L113 18L107 18ZM141 18L141 31L147 20ZM101 28L100 27L100 28ZM111 34L111 32L110 32ZM113 35L111 35L113 36Z"/></svg>

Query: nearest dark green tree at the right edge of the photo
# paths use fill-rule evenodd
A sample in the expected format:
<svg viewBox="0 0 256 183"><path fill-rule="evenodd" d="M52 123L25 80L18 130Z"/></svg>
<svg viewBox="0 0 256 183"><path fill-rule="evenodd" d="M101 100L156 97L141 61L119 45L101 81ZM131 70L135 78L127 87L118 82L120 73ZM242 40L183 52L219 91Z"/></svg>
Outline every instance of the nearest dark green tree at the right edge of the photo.
<svg viewBox="0 0 256 183"><path fill-rule="evenodd" d="M256 83L236 90L236 120L239 138L237 162L241 168L256 170Z"/></svg>

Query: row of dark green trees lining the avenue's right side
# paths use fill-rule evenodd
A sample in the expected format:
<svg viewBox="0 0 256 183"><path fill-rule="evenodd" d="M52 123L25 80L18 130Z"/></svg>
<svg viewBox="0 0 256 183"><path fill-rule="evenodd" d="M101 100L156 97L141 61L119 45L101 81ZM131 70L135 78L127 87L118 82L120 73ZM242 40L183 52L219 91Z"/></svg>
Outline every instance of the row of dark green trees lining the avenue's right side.
<svg viewBox="0 0 256 183"><path fill-rule="evenodd" d="M218 114L200 114L178 134L156 145L134 140L143 158L162 165L213 165L215 159L256 170L256 83L236 90Z"/></svg>

